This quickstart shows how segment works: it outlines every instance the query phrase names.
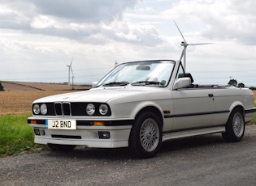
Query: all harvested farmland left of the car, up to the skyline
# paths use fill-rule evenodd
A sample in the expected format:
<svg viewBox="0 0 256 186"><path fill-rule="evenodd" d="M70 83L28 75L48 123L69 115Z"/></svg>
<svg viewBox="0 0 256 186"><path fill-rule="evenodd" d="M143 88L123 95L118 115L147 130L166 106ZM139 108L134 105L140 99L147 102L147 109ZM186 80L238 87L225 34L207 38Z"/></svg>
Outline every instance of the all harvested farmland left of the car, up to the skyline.
<svg viewBox="0 0 256 186"><path fill-rule="evenodd" d="M34 100L48 95L72 92L67 84L37 82L1 82L5 91L0 91L0 116L24 115L31 113ZM76 85L74 89L83 91L89 87Z"/></svg>

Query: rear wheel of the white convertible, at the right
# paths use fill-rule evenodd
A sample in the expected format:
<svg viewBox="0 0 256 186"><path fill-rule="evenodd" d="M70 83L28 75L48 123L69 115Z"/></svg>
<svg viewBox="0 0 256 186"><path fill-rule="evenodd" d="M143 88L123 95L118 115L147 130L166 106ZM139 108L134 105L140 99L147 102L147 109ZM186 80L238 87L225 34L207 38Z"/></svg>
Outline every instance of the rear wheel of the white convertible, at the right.
<svg viewBox="0 0 256 186"><path fill-rule="evenodd" d="M240 142L245 134L245 117L241 109L235 108L225 126L226 132L222 133L227 142Z"/></svg>

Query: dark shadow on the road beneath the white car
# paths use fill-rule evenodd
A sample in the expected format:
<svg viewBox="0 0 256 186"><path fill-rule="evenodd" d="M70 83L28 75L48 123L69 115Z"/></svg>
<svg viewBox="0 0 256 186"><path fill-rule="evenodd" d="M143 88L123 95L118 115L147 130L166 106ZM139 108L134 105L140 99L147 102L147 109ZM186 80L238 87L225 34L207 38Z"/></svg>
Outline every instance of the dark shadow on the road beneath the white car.
<svg viewBox="0 0 256 186"><path fill-rule="evenodd" d="M163 142L161 150L156 157L162 155L171 155L173 153L182 153L184 151L200 150L205 146L212 148L226 143L221 135L209 134L198 137L189 137L169 142ZM104 148L86 148L85 146L77 146L72 151L50 151L49 156L56 156L63 159L139 159L132 156L128 148L104 149Z"/></svg>

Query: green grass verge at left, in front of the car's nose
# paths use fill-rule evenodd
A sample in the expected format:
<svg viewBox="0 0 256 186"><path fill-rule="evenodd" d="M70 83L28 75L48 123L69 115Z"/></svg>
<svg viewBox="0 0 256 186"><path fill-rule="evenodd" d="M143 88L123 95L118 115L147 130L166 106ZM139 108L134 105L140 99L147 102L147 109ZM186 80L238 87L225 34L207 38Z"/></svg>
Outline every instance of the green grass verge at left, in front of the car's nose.
<svg viewBox="0 0 256 186"><path fill-rule="evenodd" d="M28 126L28 116L0 116L0 157L44 150L34 144L33 129Z"/></svg>

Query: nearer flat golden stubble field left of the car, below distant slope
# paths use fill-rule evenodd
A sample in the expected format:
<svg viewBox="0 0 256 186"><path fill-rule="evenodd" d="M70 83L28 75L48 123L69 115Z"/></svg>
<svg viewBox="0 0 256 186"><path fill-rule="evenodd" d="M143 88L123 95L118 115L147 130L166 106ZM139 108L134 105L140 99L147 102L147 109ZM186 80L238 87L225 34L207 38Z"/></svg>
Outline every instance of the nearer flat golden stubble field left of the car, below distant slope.
<svg viewBox="0 0 256 186"><path fill-rule="evenodd" d="M0 116L28 115L34 100L72 91L0 91Z"/></svg>

